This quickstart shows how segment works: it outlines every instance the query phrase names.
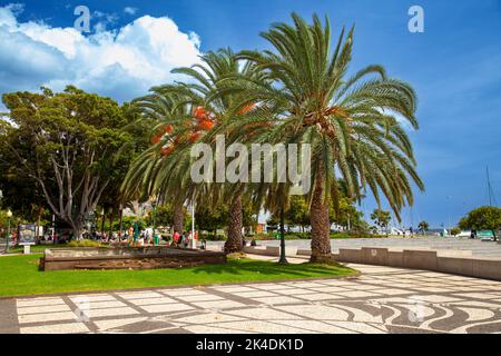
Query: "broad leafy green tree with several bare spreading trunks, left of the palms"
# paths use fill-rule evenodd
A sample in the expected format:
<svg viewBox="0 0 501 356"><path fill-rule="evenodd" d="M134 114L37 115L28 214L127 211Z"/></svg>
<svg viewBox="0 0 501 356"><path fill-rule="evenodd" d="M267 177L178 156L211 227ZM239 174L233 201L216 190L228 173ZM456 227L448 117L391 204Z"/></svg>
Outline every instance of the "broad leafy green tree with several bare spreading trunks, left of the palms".
<svg viewBox="0 0 501 356"><path fill-rule="evenodd" d="M0 160L36 181L47 206L81 238L86 216L130 156L120 149L130 140L120 107L71 86L59 93L7 93L3 102L16 128Z"/></svg>

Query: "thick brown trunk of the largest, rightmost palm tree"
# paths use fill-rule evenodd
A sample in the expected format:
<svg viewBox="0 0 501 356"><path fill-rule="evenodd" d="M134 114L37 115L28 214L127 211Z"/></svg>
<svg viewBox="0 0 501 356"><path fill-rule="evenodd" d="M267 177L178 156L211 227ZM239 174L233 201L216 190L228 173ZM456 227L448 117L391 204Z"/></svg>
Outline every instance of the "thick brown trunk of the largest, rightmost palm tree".
<svg viewBox="0 0 501 356"><path fill-rule="evenodd" d="M318 169L313 191L310 222L312 225L312 263L333 263L331 253L331 222L328 220L328 200L324 199L324 169Z"/></svg>

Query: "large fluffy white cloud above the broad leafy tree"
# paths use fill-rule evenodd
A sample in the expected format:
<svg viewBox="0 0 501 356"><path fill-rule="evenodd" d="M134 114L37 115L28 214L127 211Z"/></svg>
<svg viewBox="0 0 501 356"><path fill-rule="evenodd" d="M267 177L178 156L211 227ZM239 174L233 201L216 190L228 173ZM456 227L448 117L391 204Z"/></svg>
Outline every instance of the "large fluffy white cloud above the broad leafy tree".
<svg viewBox="0 0 501 356"><path fill-rule="evenodd" d="M19 8L0 7L0 92L40 86L61 90L71 83L130 100L151 86L179 79L171 69L199 62L198 36L181 32L167 17L144 16L122 28L84 36L71 27L19 22L18 13Z"/></svg>

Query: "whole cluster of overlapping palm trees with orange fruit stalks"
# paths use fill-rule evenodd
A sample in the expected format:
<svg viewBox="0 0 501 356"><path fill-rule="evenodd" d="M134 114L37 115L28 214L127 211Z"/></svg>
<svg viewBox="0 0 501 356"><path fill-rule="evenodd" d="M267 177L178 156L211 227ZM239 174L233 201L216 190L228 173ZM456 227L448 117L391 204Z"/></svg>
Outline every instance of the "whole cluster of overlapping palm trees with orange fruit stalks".
<svg viewBox="0 0 501 356"><path fill-rule="evenodd" d="M230 201L225 250L242 249L242 201L283 210L287 182L202 182L190 179L190 149L197 142L310 144L312 261L332 260L330 200L336 207L340 180L350 197L367 190L385 198L400 217L413 204L413 186L423 189L412 145L402 122L418 129L416 96L410 85L390 78L381 66L348 73L353 28L331 48L328 19L276 23L262 33L271 50L208 52L202 65L176 69L187 80L151 89L134 101L151 125L151 146L132 164L122 189L159 201L217 205ZM183 216L180 216L180 219ZM179 222L177 222L179 224ZM178 227L176 227L178 228Z"/></svg>

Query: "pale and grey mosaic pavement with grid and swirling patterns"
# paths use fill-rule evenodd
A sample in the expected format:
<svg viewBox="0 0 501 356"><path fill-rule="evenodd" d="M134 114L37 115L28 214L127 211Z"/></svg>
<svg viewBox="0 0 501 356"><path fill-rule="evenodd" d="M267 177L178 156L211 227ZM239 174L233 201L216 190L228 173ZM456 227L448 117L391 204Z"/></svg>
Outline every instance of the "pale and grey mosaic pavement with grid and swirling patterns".
<svg viewBox="0 0 501 356"><path fill-rule="evenodd" d="M501 283L351 265L351 279L0 300L1 333L501 333Z"/></svg>

